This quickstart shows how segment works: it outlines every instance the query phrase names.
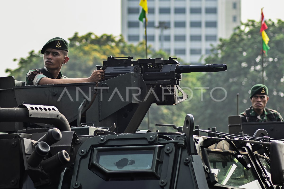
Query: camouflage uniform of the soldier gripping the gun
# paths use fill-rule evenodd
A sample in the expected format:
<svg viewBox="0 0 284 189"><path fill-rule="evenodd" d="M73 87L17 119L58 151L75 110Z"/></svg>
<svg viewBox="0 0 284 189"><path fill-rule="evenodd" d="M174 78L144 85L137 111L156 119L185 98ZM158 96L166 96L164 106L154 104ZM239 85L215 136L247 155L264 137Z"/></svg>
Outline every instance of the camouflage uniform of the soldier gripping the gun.
<svg viewBox="0 0 284 189"><path fill-rule="evenodd" d="M28 71L26 74L26 85L39 85L39 81L41 78L48 77L51 79L65 79L68 78L64 75L62 75L61 71L59 71L59 74L57 78L54 78L53 75L48 71L46 67L41 69L33 69Z"/></svg>

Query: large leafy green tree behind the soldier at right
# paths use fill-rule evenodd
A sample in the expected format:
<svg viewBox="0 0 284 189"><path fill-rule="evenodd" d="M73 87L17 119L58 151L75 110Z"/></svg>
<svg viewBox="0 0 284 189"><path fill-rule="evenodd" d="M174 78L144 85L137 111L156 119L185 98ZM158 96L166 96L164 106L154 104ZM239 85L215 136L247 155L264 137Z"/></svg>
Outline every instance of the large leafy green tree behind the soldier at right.
<svg viewBox="0 0 284 189"><path fill-rule="evenodd" d="M266 33L270 38L268 56L264 58L264 84L268 86L270 99L267 107L284 115L284 22L269 20ZM194 102L197 107L195 120L202 128L217 127L227 131L229 115L235 115L236 95L239 94L239 113L251 105L250 88L262 83L262 59L260 22L249 20L242 23L229 39L220 39L220 44L212 48L206 63L226 63L227 72L206 73L201 75L202 87L209 87L203 94L202 102ZM222 87L213 90L215 87ZM223 90L224 89L224 90ZM227 97L225 97L225 91ZM211 97L210 97L211 92ZM214 124L212 124L214 123Z"/></svg>

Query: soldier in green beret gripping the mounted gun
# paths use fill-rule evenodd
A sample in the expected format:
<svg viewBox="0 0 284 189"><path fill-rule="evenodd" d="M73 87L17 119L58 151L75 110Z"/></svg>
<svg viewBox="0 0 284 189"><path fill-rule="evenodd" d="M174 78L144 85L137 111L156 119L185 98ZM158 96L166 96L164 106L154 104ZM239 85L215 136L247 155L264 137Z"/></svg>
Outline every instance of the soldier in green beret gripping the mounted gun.
<svg viewBox="0 0 284 189"><path fill-rule="evenodd" d="M95 70L88 78L68 78L62 75L60 69L69 61L69 44L60 37L55 37L43 46L44 68L33 69L26 74L26 85L64 84L99 82L104 77L103 70Z"/></svg>

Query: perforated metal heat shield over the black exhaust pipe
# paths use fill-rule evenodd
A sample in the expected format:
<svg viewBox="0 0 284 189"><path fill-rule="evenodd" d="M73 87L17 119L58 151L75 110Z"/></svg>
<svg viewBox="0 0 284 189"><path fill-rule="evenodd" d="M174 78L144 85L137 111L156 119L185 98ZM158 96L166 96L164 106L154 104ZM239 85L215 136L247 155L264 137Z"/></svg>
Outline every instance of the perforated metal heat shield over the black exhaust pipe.
<svg viewBox="0 0 284 189"><path fill-rule="evenodd" d="M20 104L18 108L27 108L30 118L59 119L59 111L55 106Z"/></svg>

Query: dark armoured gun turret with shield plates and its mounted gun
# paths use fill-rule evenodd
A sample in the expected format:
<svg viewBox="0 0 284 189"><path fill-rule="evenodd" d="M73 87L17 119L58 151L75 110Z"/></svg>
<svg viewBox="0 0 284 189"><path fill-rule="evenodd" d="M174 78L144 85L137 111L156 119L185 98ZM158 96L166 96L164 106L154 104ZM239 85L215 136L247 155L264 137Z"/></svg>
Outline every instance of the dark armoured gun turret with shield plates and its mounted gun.
<svg viewBox="0 0 284 189"><path fill-rule="evenodd" d="M110 56L103 62L103 67L97 67L105 70L105 80L97 86L96 83L22 86L13 77L0 78L0 107L16 108L21 104L55 106L70 126L92 123L97 127L111 128L114 123L112 131L134 133L152 103L176 105L187 99L188 95L179 87L181 73L227 69L225 64L191 66L180 65L172 57L169 60L154 58L133 61L130 56ZM47 112L39 115L44 113ZM14 132L13 124L2 123L0 126L13 128L9 132ZM39 125L50 127L47 124ZM26 127L20 124L20 128Z"/></svg>

